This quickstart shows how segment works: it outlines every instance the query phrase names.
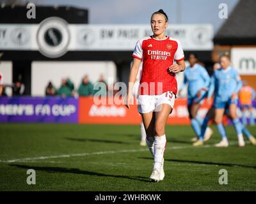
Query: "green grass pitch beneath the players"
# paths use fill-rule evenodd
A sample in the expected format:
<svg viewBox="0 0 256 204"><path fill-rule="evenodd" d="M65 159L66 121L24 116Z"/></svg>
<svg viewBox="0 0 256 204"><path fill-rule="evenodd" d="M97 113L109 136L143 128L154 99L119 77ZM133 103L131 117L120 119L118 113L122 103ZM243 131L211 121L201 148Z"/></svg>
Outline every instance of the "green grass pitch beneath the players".
<svg viewBox="0 0 256 204"><path fill-rule="evenodd" d="M216 148L214 135L192 147L190 126L167 126L165 178L149 182L153 159L140 147L140 127L78 124L0 124L1 191L256 191L256 147ZM248 127L256 133L256 127ZM36 171L28 185L27 170ZM220 185L219 170L228 172Z"/></svg>

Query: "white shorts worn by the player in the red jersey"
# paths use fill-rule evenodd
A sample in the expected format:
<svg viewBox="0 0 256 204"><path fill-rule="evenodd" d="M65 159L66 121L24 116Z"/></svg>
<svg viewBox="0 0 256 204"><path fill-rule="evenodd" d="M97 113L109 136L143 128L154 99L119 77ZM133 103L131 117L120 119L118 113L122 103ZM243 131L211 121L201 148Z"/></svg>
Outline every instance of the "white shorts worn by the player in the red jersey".
<svg viewBox="0 0 256 204"><path fill-rule="evenodd" d="M161 95L140 95L138 96L138 112L139 113L149 113L160 111L159 105L168 104L172 108L175 102L175 94L172 91L164 92ZM157 106L159 106L157 108Z"/></svg>

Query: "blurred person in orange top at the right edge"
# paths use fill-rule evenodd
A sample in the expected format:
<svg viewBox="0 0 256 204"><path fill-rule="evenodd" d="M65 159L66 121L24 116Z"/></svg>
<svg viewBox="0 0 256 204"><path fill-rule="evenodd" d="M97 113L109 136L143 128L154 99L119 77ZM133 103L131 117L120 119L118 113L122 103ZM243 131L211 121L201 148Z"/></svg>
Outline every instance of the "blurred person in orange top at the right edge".
<svg viewBox="0 0 256 204"><path fill-rule="evenodd" d="M241 110L242 110L242 120L243 124L246 125L246 111L248 110L250 112L250 125L253 126L255 124L254 122L254 116L253 116L253 106L252 101L255 99L255 91L253 90L250 85L247 84L246 81L243 81L243 87L239 91L239 101L241 103Z"/></svg>

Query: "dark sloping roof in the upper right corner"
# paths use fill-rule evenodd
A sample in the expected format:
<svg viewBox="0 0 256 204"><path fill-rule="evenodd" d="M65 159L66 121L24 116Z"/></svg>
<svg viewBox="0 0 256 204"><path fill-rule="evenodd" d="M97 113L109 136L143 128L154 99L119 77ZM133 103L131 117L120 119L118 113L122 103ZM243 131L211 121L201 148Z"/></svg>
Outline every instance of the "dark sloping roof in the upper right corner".
<svg viewBox="0 0 256 204"><path fill-rule="evenodd" d="M256 1L241 0L214 37L219 45L256 45Z"/></svg>

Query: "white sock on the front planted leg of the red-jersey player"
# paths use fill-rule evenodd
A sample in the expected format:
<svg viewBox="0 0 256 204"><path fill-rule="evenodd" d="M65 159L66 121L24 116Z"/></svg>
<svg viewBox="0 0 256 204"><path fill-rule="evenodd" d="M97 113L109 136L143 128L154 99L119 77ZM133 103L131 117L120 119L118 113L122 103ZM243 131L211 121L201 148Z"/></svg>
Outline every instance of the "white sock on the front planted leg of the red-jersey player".
<svg viewBox="0 0 256 204"><path fill-rule="evenodd" d="M166 136L155 136L154 144L154 168L160 171L161 164L164 157L164 150L166 145Z"/></svg>

